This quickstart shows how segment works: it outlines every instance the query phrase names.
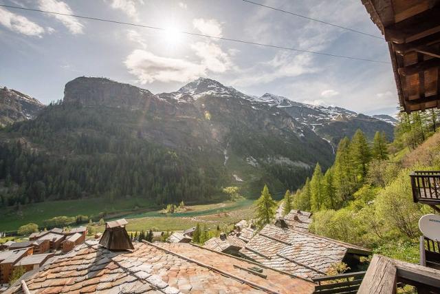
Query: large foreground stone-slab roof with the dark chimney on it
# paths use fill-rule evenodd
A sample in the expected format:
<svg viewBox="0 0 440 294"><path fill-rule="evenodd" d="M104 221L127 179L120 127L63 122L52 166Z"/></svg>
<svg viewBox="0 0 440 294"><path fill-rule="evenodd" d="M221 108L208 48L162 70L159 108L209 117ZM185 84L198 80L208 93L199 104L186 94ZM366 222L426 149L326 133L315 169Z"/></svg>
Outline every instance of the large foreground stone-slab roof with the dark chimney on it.
<svg viewBox="0 0 440 294"><path fill-rule="evenodd" d="M109 251L87 241L24 279L31 293L312 293L314 284L184 243L137 242ZM5 293L23 293L14 284Z"/></svg>

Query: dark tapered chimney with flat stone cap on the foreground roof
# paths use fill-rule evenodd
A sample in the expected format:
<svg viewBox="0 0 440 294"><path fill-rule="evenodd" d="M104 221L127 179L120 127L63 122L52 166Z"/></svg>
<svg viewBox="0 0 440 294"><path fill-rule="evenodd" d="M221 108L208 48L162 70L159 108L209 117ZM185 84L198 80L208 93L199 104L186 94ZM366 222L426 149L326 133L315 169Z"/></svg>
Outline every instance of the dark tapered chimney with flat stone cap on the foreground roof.
<svg viewBox="0 0 440 294"><path fill-rule="evenodd" d="M103 247L112 251L124 251L134 249L129 234L126 233L125 225L128 222L122 218L113 222L106 222L105 231L99 241Z"/></svg>

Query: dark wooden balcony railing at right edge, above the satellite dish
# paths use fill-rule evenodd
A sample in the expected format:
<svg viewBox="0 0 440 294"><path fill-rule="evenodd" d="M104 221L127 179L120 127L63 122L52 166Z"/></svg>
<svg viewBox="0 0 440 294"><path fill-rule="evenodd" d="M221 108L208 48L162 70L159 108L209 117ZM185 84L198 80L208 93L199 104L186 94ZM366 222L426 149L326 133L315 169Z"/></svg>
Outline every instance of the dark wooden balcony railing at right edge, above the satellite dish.
<svg viewBox="0 0 440 294"><path fill-rule="evenodd" d="M412 198L423 204L440 204L440 171L413 171Z"/></svg>

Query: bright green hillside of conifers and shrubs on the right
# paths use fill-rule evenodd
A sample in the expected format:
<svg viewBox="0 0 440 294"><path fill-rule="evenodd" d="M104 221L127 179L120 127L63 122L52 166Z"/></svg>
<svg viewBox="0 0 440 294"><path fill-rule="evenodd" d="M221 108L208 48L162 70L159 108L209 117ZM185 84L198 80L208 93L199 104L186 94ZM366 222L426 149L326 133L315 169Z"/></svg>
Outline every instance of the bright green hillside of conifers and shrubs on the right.
<svg viewBox="0 0 440 294"><path fill-rule="evenodd" d="M433 209L412 201L409 174L440 169L439 114L400 114L393 143L380 132L373 143L361 131L342 139L333 166L322 174L318 164L294 195L295 208L314 212L311 230L417 262L418 220Z"/></svg>

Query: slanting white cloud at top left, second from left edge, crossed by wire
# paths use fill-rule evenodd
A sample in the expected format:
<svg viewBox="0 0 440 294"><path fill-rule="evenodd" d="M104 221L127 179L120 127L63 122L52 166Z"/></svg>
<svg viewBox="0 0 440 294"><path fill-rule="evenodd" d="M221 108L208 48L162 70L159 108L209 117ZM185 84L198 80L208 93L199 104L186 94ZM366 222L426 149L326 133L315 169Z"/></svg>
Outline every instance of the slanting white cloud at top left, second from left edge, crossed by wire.
<svg viewBox="0 0 440 294"><path fill-rule="evenodd" d="M41 10L59 12L63 14L73 14L72 9L70 9L67 3L63 1L40 0L39 8ZM72 34L83 34L84 25L74 17L67 17L66 15L58 15L58 14L50 14L50 15L58 19L58 21L61 21L61 23L63 23L63 25L65 25L65 27Z"/></svg>

